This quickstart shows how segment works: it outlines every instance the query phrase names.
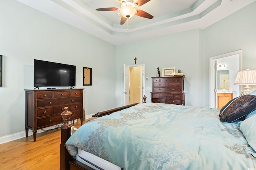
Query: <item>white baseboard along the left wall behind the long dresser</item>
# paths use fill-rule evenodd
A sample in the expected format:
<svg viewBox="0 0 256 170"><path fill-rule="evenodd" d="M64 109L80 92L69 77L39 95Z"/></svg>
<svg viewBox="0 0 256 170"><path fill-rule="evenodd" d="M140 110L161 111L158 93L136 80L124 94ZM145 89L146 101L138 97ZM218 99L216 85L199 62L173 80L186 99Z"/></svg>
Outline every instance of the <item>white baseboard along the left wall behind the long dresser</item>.
<svg viewBox="0 0 256 170"><path fill-rule="evenodd" d="M75 122L77 122L77 121L78 120L75 120ZM71 123L71 121L70 121L70 123ZM58 124L58 125L62 125L62 124ZM57 125L54 125L54 126L46 127L46 128L43 128L43 129L44 130L54 129L56 126ZM42 129L38 129L36 134L42 133L42 132L45 132L45 131L43 131ZM31 136L31 135L33 135L33 132L29 129L28 130L28 136ZM23 138L23 137L26 137L26 132L25 131L14 133L14 134L11 134L11 135L6 135L6 136L3 136L3 137L0 137L0 144L7 143L7 142L10 142L10 141L14 141L14 140L17 140L17 139L20 139L20 138Z"/></svg>

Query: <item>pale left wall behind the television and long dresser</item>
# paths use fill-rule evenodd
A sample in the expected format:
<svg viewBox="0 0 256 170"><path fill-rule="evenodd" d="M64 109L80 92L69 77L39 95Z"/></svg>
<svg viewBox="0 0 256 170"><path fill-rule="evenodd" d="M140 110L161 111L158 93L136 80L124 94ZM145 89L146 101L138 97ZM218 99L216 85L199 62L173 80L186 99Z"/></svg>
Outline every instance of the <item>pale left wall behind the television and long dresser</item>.
<svg viewBox="0 0 256 170"><path fill-rule="evenodd" d="M24 131L24 89L34 88L34 59L76 65L76 88L85 88L86 114L115 107L115 50L16 0L0 0L0 137ZM84 66L92 68L92 86L83 86Z"/></svg>

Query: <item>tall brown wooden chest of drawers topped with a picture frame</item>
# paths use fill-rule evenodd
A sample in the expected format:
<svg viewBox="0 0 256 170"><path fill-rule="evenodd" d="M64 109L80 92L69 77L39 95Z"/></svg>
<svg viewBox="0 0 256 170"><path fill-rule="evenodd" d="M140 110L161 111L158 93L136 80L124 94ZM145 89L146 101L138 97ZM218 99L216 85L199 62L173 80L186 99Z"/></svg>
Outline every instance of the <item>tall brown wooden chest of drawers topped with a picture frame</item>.
<svg viewBox="0 0 256 170"><path fill-rule="evenodd" d="M184 76L152 77L151 102L185 105Z"/></svg>

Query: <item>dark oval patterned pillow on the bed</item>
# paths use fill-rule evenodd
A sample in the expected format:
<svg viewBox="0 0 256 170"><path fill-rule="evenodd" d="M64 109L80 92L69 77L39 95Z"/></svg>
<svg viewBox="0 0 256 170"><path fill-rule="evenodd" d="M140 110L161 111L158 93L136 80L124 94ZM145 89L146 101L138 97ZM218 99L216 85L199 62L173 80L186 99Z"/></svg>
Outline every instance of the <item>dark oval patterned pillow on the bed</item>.
<svg viewBox="0 0 256 170"><path fill-rule="evenodd" d="M220 121L234 122L244 120L256 108L256 96L246 94L230 100L220 109Z"/></svg>

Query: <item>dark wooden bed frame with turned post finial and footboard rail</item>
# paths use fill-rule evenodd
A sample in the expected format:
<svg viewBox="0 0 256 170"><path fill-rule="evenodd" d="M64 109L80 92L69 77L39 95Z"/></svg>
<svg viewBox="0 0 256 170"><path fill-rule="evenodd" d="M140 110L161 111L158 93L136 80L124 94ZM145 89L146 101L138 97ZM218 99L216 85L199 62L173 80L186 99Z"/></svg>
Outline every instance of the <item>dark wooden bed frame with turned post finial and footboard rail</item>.
<svg viewBox="0 0 256 170"><path fill-rule="evenodd" d="M145 101L143 102L145 103ZM109 115L111 113L114 113L116 111L120 111L122 109L126 109L131 106L135 106L138 103L130 104L127 106L122 106L122 107L117 107L114 109L98 112L92 117L102 117L104 115ZM69 153L68 150L66 149L66 141L68 138L71 136L71 125L68 124L69 122L69 117L72 114L70 111L68 111L68 107L64 108L65 111L61 113L61 116L64 121L64 125L61 127L61 143L60 143L60 170L93 170L93 168L75 160ZM90 162L88 162L90 163ZM93 166L97 167L96 165L92 164ZM100 169L100 168L99 168Z"/></svg>

